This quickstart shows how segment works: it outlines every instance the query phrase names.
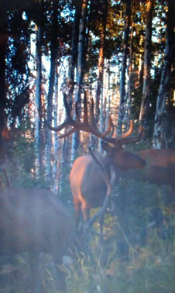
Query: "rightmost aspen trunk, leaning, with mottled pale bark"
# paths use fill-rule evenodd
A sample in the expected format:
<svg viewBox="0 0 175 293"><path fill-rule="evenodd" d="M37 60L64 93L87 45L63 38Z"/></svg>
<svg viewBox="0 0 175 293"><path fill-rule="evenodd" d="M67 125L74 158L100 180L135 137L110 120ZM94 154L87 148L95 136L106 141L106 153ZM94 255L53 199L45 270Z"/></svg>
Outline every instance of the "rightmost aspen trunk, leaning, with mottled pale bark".
<svg viewBox="0 0 175 293"><path fill-rule="evenodd" d="M167 11L167 30L166 30L165 57L162 68L162 75L157 96L157 106L155 114L155 126L153 134L153 147L161 148L161 141L164 137L164 117L165 117L165 101L167 98L168 86L171 79L171 65L173 61L174 47L174 1L169 0ZM166 141L166 139L165 139Z"/></svg>

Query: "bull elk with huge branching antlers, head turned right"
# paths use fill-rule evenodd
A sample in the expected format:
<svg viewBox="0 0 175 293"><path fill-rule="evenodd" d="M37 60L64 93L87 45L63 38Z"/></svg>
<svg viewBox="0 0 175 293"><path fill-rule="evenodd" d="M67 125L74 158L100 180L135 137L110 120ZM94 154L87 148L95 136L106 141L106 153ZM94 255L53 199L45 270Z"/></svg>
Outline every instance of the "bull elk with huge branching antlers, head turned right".
<svg viewBox="0 0 175 293"><path fill-rule="evenodd" d="M68 106L66 95L64 94L64 106L66 108L66 120L58 127L49 126L50 130L60 131L64 127L71 125L73 128L59 137L63 138L75 131L85 131L89 132L96 137L102 139L102 148L107 152L106 156L100 156L98 160L104 166L104 169L111 178L110 168L114 168L116 180L120 177L120 171L130 168L142 168L145 166L145 160L140 158L140 156L132 154L131 152L123 149L123 145L129 143L138 142L142 137L143 129L140 127L137 136L132 137L133 132L133 122L130 121L130 129L128 132L122 134L119 137L112 138L107 136L111 131L112 122L109 118L108 130L106 132L99 132L97 130L97 125L95 123L94 117L94 102L91 102L91 125L88 123L87 117L87 99L86 93L84 95L84 116L83 122L80 122L80 117L78 115L78 107L76 103L76 121L71 117L71 111ZM92 156L81 156L73 164L70 173L70 183L71 190L73 194L73 202L76 209L77 222L80 218L80 212L83 212L83 218L85 221L90 218L90 208L102 206L104 198L107 193L107 184L102 176L102 172L98 164L92 158Z"/></svg>

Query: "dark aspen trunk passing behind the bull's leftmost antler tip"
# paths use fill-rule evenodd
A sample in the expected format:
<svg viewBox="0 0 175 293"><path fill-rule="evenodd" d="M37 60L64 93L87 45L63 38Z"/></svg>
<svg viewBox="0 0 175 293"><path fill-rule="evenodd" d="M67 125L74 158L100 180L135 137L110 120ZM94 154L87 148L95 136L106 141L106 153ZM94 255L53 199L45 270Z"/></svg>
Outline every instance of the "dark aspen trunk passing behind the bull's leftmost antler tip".
<svg viewBox="0 0 175 293"><path fill-rule="evenodd" d="M57 52L57 33L58 33L58 0L53 1L52 14L52 38L50 44L50 76L49 92L47 96L47 122L52 125L53 94L55 82L55 65ZM52 132L46 129L46 184L47 188L52 186L52 166L51 166Z"/></svg>

